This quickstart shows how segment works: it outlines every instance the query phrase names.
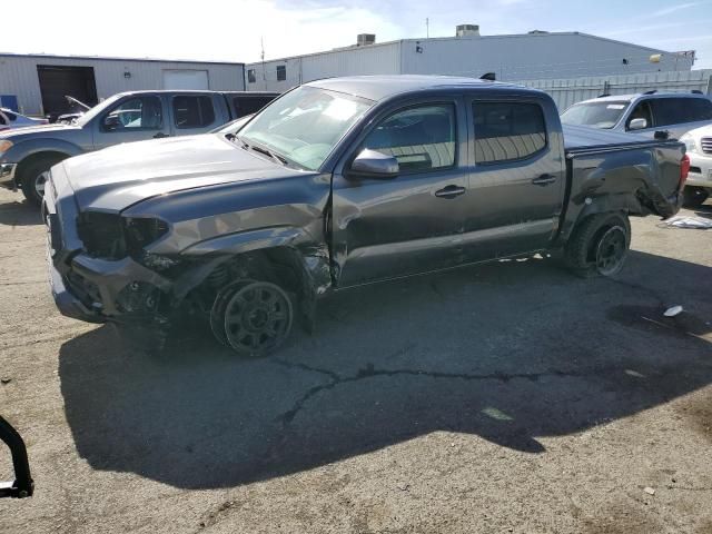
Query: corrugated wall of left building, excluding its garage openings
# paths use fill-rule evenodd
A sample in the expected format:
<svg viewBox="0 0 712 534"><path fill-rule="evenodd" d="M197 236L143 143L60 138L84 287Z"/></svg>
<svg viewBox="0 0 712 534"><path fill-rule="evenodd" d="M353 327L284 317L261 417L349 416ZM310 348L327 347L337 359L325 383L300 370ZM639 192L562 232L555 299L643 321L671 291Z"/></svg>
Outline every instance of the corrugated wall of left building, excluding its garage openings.
<svg viewBox="0 0 712 534"><path fill-rule="evenodd" d="M210 89L217 91L245 89L241 63L0 55L0 95L17 95L21 111L28 115L42 115L42 98L37 76L38 65L93 67L99 99L121 91L164 89L164 70L207 70ZM125 72L130 72L130 78L126 78Z"/></svg>

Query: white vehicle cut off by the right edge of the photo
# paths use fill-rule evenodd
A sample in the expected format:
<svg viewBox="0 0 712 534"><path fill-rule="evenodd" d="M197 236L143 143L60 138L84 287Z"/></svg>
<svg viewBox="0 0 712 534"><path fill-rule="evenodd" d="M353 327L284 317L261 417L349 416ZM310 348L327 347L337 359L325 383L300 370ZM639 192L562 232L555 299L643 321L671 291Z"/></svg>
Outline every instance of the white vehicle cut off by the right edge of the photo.
<svg viewBox="0 0 712 534"><path fill-rule="evenodd" d="M696 208L712 194L712 126L703 126L680 138L688 147L690 175L684 189L685 206Z"/></svg>

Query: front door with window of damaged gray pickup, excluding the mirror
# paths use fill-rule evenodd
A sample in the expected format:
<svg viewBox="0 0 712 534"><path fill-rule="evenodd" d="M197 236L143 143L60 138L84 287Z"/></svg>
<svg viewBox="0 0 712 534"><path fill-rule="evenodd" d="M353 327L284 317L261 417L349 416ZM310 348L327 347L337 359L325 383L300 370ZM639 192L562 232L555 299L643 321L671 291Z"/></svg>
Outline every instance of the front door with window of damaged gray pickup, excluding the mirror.
<svg viewBox="0 0 712 534"><path fill-rule="evenodd" d="M374 125L349 158L365 148L377 150L398 160L399 174L387 179L335 174L332 230L338 287L456 261L467 196L463 102L423 101L385 111Z"/></svg>

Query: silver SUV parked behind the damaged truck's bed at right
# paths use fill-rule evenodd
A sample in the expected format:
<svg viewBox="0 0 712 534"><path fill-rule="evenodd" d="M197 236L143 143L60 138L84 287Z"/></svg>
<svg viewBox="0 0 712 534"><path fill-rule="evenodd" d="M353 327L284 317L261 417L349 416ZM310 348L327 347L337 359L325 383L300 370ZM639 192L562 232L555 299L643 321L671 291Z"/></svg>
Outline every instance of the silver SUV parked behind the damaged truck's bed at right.
<svg viewBox="0 0 712 534"><path fill-rule="evenodd" d="M602 96L574 103L561 116L564 125L627 131L654 137L665 131L674 139L712 123L712 100L702 93L656 92Z"/></svg>

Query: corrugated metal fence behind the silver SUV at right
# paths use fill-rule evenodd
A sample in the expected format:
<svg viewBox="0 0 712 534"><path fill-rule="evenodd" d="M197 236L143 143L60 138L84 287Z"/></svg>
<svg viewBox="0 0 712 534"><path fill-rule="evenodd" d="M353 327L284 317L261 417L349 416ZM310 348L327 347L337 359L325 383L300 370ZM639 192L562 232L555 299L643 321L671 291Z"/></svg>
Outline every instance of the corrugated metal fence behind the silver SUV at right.
<svg viewBox="0 0 712 534"><path fill-rule="evenodd" d="M657 91L690 92L699 90L712 95L712 69L688 72L645 72L637 75L597 76L556 80L522 80L523 86L551 95L561 111L572 103L610 95L629 95L655 89Z"/></svg>

